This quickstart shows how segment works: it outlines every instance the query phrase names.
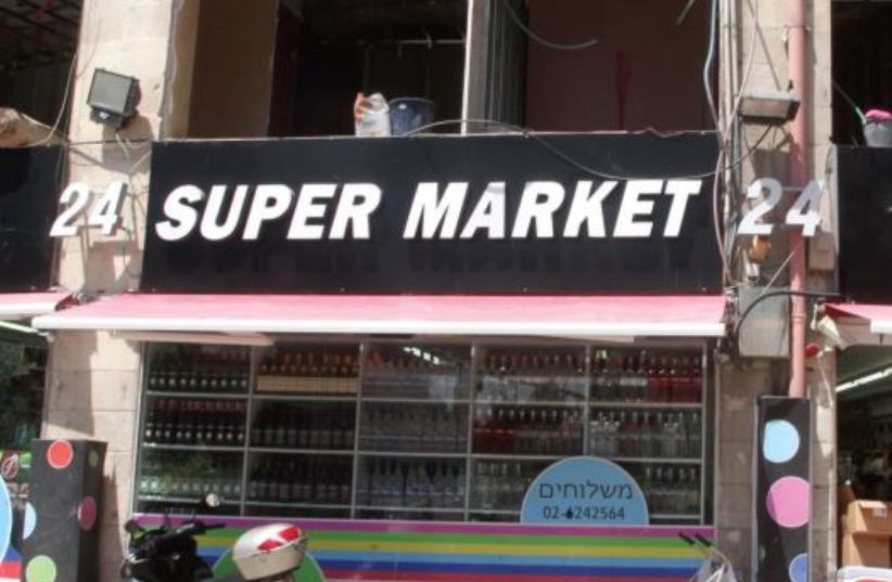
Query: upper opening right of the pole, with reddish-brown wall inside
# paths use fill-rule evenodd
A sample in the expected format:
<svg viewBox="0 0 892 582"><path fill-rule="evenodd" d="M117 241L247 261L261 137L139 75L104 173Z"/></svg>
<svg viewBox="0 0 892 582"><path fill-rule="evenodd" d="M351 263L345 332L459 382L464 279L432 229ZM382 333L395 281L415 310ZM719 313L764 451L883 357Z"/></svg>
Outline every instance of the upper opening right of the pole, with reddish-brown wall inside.
<svg viewBox="0 0 892 582"><path fill-rule="evenodd" d="M702 81L710 2L683 8L492 0L487 116L538 131L713 129Z"/></svg>

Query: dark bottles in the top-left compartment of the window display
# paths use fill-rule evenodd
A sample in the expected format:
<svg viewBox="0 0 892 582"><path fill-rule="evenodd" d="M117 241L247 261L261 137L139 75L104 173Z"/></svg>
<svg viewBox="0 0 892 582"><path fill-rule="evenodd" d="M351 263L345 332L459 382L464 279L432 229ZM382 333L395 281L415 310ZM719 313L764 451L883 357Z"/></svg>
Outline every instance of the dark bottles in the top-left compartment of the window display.
<svg viewBox="0 0 892 582"><path fill-rule="evenodd" d="M247 392L251 354L240 347L156 347L149 366L150 390Z"/></svg>

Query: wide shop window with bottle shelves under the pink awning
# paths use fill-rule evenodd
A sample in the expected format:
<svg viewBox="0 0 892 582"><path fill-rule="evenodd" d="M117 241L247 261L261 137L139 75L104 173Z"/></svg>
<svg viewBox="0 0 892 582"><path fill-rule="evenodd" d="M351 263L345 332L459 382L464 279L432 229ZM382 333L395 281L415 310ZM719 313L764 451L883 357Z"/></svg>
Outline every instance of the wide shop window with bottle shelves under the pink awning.
<svg viewBox="0 0 892 582"><path fill-rule="evenodd" d="M585 344L152 345L139 512L520 520L562 458L624 467L652 523L708 523L703 351Z"/></svg>

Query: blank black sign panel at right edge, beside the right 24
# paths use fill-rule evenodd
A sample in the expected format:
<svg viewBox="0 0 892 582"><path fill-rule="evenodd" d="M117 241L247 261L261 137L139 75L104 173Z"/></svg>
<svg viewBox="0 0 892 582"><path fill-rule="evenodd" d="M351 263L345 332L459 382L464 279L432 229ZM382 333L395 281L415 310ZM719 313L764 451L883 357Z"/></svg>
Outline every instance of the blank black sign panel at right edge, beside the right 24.
<svg viewBox="0 0 892 582"><path fill-rule="evenodd" d="M892 148L837 148L840 290L892 300Z"/></svg>

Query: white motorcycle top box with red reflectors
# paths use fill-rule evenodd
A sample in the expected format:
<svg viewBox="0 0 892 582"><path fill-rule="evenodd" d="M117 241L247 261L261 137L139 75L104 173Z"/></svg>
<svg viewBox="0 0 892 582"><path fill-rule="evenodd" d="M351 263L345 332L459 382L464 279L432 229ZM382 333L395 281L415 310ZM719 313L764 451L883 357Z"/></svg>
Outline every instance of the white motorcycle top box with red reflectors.
<svg viewBox="0 0 892 582"><path fill-rule="evenodd" d="M244 532L232 548L232 561L245 580L263 580L296 570L307 536L289 523L271 523Z"/></svg>

